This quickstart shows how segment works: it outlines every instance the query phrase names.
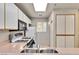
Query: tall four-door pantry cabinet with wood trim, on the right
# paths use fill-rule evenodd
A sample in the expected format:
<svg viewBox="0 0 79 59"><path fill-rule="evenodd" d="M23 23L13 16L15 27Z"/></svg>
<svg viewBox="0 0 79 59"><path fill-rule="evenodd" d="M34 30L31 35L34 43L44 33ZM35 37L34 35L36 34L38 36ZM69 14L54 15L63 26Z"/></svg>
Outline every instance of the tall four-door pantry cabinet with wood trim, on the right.
<svg viewBox="0 0 79 59"><path fill-rule="evenodd" d="M57 15L56 25L57 48L74 48L75 16Z"/></svg>

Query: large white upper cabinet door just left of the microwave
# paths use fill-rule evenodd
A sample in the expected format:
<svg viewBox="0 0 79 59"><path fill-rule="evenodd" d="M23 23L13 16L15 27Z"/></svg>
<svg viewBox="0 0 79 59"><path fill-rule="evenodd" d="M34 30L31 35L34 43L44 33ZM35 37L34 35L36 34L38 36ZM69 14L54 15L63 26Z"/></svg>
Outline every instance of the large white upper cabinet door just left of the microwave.
<svg viewBox="0 0 79 59"><path fill-rule="evenodd" d="M13 3L6 4L6 29L18 29L18 8Z"/></svg>

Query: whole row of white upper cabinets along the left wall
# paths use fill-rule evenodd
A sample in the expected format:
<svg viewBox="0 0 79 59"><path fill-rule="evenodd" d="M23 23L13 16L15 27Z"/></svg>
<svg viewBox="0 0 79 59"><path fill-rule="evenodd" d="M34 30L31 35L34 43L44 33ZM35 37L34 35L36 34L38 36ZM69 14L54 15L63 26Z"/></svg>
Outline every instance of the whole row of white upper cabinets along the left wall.
<svg viewBox="0 0 79 59"><path fill-rule="evenodd" d="M0 4L0 30L17 30L18 19L27 23L27 26L31 23L31 20L14 3Z"/></svg>

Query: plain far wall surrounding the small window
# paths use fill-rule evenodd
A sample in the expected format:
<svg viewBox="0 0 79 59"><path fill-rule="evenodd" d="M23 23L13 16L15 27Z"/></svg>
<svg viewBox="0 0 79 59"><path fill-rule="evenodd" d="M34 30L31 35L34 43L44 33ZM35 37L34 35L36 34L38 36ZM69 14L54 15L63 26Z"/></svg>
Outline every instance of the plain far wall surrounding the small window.
<svg viewBox="0 0 79 59"><path fill-rule="evenodd" d="M48 27L48 19L32 19L32 25L36 27L37 22L47 22L47 31L36 33L36 40L39 39L40 47L49 47L49 27ZM39 35L39 36L38 36Z"/></svg>

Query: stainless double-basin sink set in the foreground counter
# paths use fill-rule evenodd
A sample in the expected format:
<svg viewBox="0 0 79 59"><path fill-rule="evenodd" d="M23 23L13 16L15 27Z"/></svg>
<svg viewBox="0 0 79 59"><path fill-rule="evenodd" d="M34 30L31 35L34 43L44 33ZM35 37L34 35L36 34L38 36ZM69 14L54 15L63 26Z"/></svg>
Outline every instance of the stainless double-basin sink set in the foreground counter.
<svg viewBox="0 0 79 59"><path fill-rule="evenodd" d="M21 53L58 53L57 50L55 49L34 49L34 48L29 48L29 49L24 49L21 51Z"/></svg>

